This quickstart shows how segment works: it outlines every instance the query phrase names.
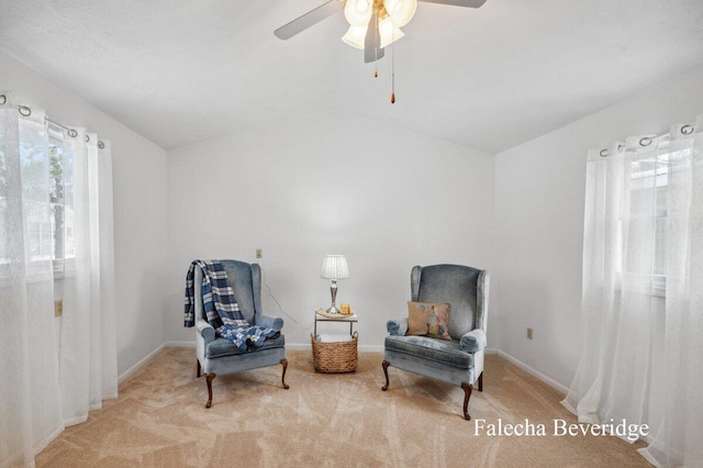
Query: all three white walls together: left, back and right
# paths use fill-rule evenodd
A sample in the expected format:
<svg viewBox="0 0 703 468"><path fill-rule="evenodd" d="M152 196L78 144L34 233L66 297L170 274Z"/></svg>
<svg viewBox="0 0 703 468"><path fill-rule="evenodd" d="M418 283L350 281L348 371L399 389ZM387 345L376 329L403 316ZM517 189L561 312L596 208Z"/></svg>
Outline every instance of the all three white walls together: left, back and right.
<svg viewBox="0 0 703 468"><path fill-rule="evenodd" d="M404 315L413 265L467 264L492 271L489 346L568 387L579 359L587 151L703 112L700 68L494 160L333 111L167 157L1 52L0 63L0 88L112 141L120 374L165 342L192 342L182 327L190 260L255 261L260 247L290 317L266 293L264 308L286 319L291 344L309 344L312 312L328 303L325 254L348 256L337 303L359 313L367 347L380 347L384 322Z"/></svg>

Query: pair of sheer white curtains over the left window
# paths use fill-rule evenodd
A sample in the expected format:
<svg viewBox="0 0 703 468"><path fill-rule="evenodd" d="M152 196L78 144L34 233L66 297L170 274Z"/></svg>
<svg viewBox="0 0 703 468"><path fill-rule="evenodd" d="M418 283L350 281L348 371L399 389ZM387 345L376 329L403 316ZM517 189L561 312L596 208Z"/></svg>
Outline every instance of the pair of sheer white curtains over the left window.
<svg viewBox="0 0 703 468"><path fill-rule="evenodd" d="M116 397L110 149L70 134L0 92L0 466Z"/></svg>

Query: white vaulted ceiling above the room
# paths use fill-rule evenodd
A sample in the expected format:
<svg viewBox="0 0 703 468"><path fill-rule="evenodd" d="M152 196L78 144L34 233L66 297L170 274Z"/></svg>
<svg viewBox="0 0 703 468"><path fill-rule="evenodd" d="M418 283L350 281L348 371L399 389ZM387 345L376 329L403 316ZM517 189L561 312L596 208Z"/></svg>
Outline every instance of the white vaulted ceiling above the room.
<svg viewBox="0 0 703 468"><path fill-rule="evenodd" d="M167 149L335 109L496 153L703 66L702 0L420 3L391 104L343 13L274 36L324 1L0 0L0 49Z"/></svg>

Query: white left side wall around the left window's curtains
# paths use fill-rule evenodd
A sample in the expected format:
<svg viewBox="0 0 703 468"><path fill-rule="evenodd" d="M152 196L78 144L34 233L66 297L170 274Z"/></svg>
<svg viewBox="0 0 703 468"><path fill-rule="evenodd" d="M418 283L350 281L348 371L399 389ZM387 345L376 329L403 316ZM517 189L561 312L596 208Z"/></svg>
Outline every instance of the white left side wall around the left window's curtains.
<svg viewBox="0 0 703 468"><path fill-rule="evenodd" d="M0 52L0 89L12 90L62 124L112 142L118 371L159 347L166 288L166 152L93 105Z"/></svg>

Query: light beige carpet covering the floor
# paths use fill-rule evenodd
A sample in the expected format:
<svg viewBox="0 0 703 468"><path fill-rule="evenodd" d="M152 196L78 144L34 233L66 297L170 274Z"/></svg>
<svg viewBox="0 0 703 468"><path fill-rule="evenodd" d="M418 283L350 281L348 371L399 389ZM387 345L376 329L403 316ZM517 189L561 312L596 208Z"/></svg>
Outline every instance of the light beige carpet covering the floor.
<svg viewBox="0 0 703 468"><path fill-rule="evenodd" d="M483 392L461 413L464 391L359 355L354 374L316 374L310 352L288 352L289 368L194 378L194 350L169 348L120 386L89 420L68 427L36 458L40 467L626 467L649 465L612 436L551 435L554 420L576 419L550 387L495 355ZM486 424L545 424L546 436L476 435Z"/></svg>

